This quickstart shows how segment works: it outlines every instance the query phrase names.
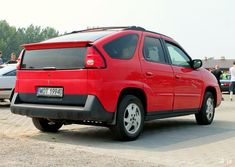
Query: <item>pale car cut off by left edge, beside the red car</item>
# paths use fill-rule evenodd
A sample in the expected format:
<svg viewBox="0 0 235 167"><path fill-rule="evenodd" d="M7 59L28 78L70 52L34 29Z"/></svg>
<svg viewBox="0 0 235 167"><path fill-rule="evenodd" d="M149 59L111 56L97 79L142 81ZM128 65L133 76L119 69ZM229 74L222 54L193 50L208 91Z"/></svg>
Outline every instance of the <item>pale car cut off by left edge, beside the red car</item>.
<svg viewBox="0 0 235 167"><path fill-rule="evenodd" d="M15 87L16 64L4 64L0 67L0 101L9 99Z"/></svg>

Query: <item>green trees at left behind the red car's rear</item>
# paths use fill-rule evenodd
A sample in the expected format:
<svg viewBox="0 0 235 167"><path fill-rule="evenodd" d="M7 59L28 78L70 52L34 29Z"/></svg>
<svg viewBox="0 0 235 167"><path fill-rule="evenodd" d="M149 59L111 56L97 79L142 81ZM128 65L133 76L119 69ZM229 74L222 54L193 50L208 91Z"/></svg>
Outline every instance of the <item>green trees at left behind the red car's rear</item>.
<svg viewBox="0 0 235 167"><path fill-rule="evenodd" d="M59 32L51 27L42 28L31 24L26 28L16 28L10 26L7 21L0 20L0 51L2 51L2 58L5 62L10 59L12 52L19 55L22 44L40 42L57 36L59 36Z"/></svg>

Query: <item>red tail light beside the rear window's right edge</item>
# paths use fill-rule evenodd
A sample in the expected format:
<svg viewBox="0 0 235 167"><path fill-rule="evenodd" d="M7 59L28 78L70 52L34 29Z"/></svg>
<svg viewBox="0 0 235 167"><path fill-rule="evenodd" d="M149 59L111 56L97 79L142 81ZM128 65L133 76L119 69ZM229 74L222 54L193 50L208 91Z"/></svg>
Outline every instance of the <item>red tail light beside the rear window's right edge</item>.
<svg viewBox="0 0 235 167"><path fill-rule="evenodd" d="M87 48L87 55L85 58L85 68L105 68L106 63L104 57L93 46Z"/></svg>

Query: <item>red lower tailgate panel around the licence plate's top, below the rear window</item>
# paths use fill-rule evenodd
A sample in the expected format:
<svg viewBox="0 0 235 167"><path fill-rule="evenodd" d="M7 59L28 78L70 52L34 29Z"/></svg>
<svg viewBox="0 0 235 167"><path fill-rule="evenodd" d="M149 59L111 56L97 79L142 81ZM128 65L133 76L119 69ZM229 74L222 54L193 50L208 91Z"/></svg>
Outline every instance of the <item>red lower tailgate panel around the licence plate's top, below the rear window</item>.
<svg viewBox="0 0 235 167"><path fill-rule="evenodd" d="M65 94L87 94L87 70L19 70L16 92L36 93L37 87L63 87Z"/></svg>

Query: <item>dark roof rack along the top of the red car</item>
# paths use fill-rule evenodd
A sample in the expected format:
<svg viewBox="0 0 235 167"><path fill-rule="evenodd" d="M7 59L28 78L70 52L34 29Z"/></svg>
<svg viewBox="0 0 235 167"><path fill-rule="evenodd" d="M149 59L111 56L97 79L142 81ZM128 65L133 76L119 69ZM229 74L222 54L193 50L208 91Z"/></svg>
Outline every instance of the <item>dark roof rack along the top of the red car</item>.
<svg viewBox="0 0 235 167"><path fill-rule="evenodd" d="M72 31L69 34L79 33L79 32L89 32L89 31L103 31L103 30L115 30L115 29L123 29L123 30L138 30L138 31L145 31L142 27L137 26L119 26L119 27L97 27L97 28L88 28L79 31Z"/></svg>

